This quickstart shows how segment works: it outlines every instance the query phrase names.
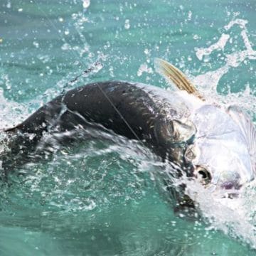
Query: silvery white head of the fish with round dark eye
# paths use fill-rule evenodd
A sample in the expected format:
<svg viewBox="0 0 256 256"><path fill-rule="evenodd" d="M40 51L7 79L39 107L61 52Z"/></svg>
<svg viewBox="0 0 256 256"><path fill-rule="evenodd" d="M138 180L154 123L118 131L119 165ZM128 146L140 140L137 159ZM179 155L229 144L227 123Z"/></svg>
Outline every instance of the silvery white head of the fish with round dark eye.
<svg viewBox="0 0 256 256"><path fill-rule="evenodd" d="M197 134L186 149L193 176L204 186L238 191L255 178L246 134L228 112L213 105L201 107L193 117Z"/></svg>

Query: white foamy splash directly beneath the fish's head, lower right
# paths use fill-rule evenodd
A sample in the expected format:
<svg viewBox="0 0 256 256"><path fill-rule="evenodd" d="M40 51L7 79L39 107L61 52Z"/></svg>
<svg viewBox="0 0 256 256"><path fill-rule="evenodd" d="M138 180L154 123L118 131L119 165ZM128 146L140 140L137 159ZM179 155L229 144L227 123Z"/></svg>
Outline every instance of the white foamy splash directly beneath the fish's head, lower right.
<svg viewBox="0 0 256 256"><path fill-rule="evenodd" d="M252 212L255 214L255 184L247 184L238 198L231 199L211 191L210 188L198 186L197 181L184 179L183 183L187 186L186 193L196 201L201 215L209 223L208 230L222 230L226 235L256 248L255 219L250 216Z"/></svg>

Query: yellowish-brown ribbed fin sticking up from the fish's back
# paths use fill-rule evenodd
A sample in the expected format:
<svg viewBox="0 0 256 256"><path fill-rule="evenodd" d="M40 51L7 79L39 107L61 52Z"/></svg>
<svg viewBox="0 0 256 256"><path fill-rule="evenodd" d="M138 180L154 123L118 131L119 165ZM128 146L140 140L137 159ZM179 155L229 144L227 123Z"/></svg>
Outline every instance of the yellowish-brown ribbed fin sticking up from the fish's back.
<svg viewBox="0 0 256 256"><path fill-rule="evenodd" d="M186 92L204 100L203 96L196 90L196 87L186 78L186 75L174 67L174 65L161 58L156 58L155 67L160 75L164 76L166 80L173 82L179 90L186 90Z"/></svg>

